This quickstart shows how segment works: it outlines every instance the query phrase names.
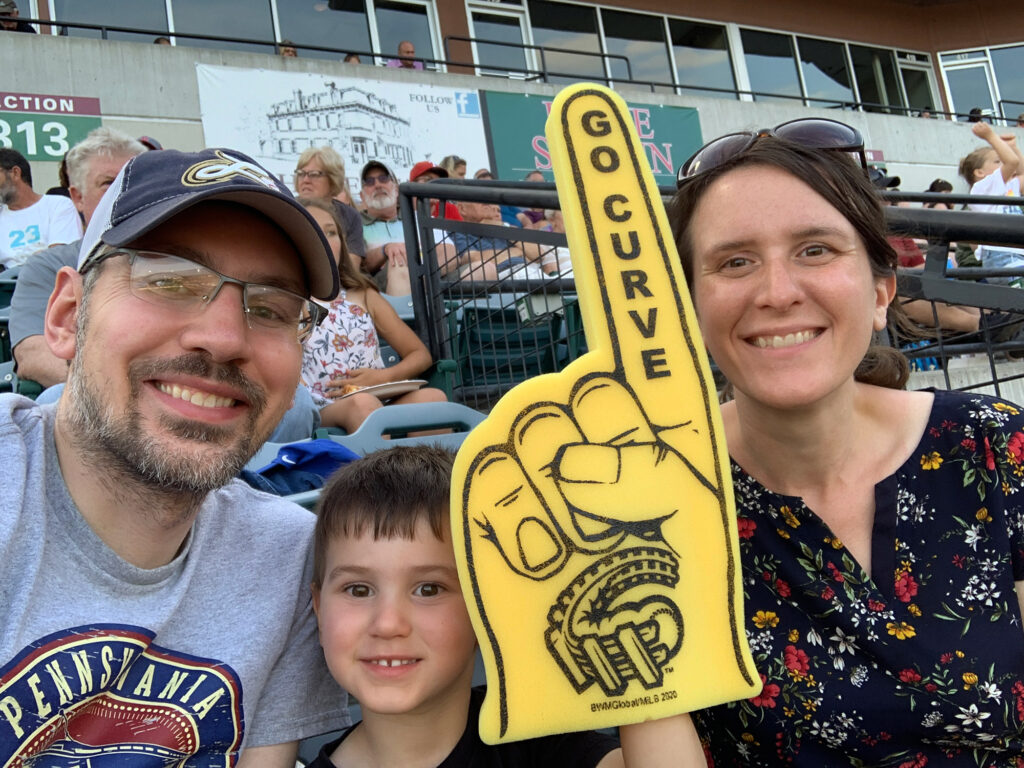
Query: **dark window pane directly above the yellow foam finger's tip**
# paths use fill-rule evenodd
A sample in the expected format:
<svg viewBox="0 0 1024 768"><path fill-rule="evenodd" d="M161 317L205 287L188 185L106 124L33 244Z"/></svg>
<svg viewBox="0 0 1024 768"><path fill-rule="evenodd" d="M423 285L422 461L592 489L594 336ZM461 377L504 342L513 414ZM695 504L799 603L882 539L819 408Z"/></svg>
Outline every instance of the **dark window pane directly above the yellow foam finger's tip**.
<svg viewBox="0 0 1024 768"><path fill-rule="evenodd" d="M604 63L593 54L601 50L597 37L597 16L586 5L529 0L529 24L534 44L551 48L568 48L580 53L544 51L539 61L548 72L567 77L549 77L552 83L570 83L581 79L605 80ZM538 52L540 55L540 51Z"/></svg>

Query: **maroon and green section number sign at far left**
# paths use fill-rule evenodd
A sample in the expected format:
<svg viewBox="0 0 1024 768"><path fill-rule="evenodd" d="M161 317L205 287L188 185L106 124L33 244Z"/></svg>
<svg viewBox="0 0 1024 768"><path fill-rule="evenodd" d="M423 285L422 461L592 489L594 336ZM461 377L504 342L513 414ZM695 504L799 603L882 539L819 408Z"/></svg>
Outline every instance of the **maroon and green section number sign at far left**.
<svg viewBox="0 0 1024 768"><path fill-rule="evenodd" d="M0 92L0 146L30 162L59 162L99 125L97 98Z"/></svg>

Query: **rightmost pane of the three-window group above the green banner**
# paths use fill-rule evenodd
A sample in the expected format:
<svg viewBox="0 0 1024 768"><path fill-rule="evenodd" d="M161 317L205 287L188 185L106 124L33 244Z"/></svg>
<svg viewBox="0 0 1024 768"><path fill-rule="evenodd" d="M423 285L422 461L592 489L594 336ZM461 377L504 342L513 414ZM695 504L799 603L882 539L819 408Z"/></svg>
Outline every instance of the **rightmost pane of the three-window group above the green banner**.
<svg viewBox="0 0 1024 768"><path fill-rule="evenodd" d="M736 78L729 59L729 41L724 27L670 18L669 34L672 35L672 55L676 61L676 76L680 84L725 88L730 91L736 89ZM735 93L721 91L688 88L679 90L701 96L736 97Z"/></svg>

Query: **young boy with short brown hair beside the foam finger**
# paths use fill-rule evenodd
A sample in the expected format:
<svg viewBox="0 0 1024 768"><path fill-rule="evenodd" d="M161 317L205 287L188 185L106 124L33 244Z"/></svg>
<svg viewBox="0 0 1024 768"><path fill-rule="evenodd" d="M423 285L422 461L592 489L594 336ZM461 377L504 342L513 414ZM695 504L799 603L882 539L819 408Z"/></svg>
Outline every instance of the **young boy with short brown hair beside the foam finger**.
<svg viewBox="0 0 1024 768"><path fill-rule="evenodd" d="M596 732L480 740L476 639L449 521L452 460L433 446L389 449L342 467L324 487L313 608L328 668L358 700L362 722L310 768L622 766L615 739Z"/></svg>

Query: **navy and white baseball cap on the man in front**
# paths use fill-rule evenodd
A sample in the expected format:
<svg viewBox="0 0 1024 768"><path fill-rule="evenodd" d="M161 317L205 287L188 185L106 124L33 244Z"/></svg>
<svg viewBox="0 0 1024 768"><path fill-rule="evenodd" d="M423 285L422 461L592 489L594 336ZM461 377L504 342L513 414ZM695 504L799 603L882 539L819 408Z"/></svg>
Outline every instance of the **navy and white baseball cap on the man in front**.
<svg viewBox="0 0 1024 768"><path fill-rule="evenodd" d="M82 239L78 268L103 245L127 246L197 203L219 200L251 208L284 231L305 268L309 294L338 295L338 265L316 220L288 187L234 150L176 150L138 155L121 169L96 207Z"/></svg>

